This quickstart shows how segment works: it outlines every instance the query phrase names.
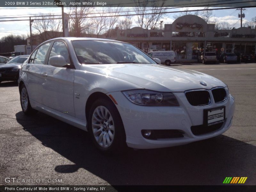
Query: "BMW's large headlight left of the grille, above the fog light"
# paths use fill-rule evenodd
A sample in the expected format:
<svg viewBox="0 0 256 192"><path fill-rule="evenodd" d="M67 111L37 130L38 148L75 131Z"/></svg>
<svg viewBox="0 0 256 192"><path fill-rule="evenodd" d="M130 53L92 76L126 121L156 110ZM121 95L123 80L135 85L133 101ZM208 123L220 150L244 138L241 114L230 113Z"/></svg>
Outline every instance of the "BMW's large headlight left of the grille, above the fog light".
<svg viewBox="0 0 256 192"><path fill-rule="evenodd" d="M128 90L123 91L128 100L137 105L143 106L179 106L173 93L155 92L149 90Z"/></svg>

